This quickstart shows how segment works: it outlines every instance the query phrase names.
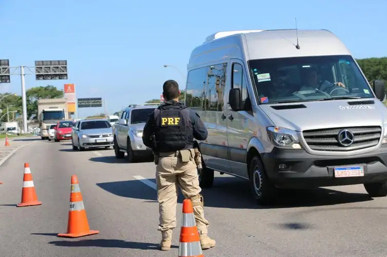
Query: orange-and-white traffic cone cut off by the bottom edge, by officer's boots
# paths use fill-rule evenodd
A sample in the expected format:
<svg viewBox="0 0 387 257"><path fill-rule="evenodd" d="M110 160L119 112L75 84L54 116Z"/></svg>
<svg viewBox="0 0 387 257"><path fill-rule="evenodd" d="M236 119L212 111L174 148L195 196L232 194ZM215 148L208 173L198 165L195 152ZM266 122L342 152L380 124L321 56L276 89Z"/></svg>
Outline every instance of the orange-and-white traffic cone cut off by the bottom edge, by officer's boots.
<svg viewBox="0 0 387 257"><path fill-rule="evenodd" d="M183 217L181 220L179 257L195 256L204 257L200 244L199 232L193 216L192 202L190 199L183 201Z"/></svg>

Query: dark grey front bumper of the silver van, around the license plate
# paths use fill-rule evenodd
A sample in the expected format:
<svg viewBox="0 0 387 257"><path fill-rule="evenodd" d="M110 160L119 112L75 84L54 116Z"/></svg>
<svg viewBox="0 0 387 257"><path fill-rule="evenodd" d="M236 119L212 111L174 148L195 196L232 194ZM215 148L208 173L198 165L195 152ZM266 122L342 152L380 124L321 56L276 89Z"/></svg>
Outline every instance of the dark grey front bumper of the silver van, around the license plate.
<svg viewBox="0 0 387 257"><path fill-rule="evenodd" d="M354 185L387 181L387 145L356 156L311 155L304 150L274 148L262 156L270 181L285 188ZM335 178L335 167L362 166L364 176Z"/></svg>

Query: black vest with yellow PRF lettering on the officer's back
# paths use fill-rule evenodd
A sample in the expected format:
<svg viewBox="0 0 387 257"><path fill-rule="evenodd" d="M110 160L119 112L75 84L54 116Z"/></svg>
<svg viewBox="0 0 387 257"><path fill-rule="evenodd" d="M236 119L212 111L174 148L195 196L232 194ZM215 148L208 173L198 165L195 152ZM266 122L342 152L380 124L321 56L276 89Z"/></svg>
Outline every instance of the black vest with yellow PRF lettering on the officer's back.
<svg viewBox="0 0 387 257"><path fill-rule="evenodd" d="M165 103L155 110L157 152L176 152L193 145L193 129L189 119L189 109L180 103Z"/></svg>

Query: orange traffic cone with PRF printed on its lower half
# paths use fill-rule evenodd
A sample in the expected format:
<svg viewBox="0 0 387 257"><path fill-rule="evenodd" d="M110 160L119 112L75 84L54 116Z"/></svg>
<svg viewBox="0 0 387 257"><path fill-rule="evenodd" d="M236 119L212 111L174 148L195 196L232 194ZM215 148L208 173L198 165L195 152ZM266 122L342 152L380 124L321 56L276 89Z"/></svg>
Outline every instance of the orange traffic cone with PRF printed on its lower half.
<svg viewBox="0 0 387 257"><path fill-rule="evenodd" d="M79 238L85 235L98 234L99 232L98 230L90 230L81 189L78 184L78 177L72 175L67 233L60 233L58 237Z"/></svg>

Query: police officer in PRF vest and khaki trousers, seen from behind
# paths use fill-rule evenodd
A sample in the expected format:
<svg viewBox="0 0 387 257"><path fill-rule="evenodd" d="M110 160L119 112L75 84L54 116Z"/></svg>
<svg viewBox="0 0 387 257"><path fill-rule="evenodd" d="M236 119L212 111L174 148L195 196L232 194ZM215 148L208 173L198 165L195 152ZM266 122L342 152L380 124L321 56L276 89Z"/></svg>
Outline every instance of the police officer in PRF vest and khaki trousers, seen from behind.
<svg viewBox="0 0 387 257"><path fill-rule="evenodd" d="M157 198L162 233L160 248L171 247L172 229L176 228L178 185L186 199L191 199L193 215L200 235L202 249L215 246L207 235L208 221L204 218L203 196L199 186L197 165L201 165L193 138L205 140L207 129L199 115L179 103L179 85L175 80L163 84L164 104L148 117L143 131L144 144L152 148L156 167Z"/></svg>

